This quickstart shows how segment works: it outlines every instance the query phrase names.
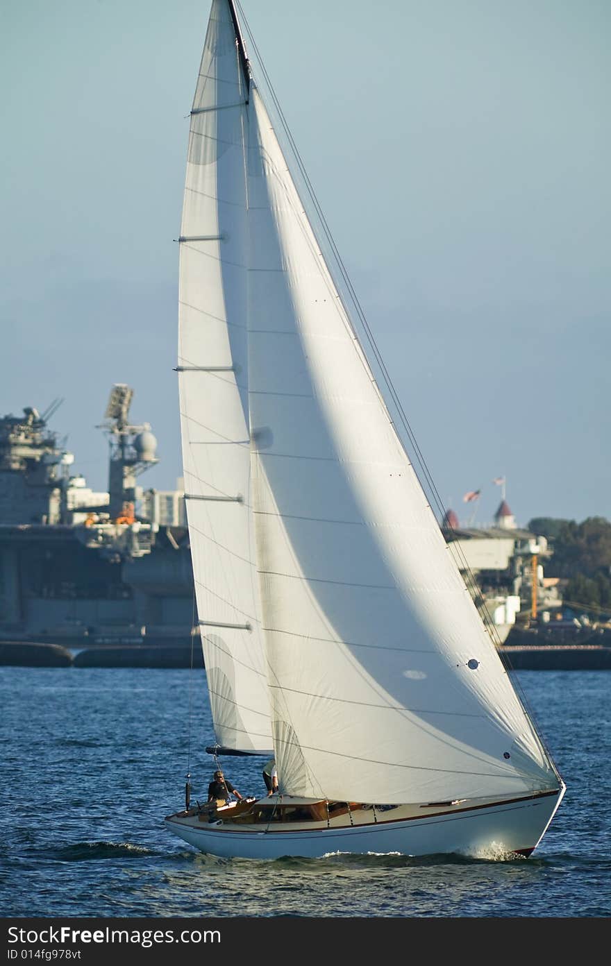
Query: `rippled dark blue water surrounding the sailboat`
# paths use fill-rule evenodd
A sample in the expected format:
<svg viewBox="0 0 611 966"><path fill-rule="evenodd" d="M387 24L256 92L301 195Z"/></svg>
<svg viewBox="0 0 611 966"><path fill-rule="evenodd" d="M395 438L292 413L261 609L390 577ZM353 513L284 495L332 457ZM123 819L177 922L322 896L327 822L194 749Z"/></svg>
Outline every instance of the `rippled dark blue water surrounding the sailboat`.
<svg viewBox="0 0 611 966"><path fill-rule="evenodd" d="M516 675L567 794L528 860L201 855L162 819L213 770L203 674L0 668L5 917L606 917L611 914L608 671ZM190 724L189 724L190 723ZM225 759L262 795L258 759Z"/></svg>

